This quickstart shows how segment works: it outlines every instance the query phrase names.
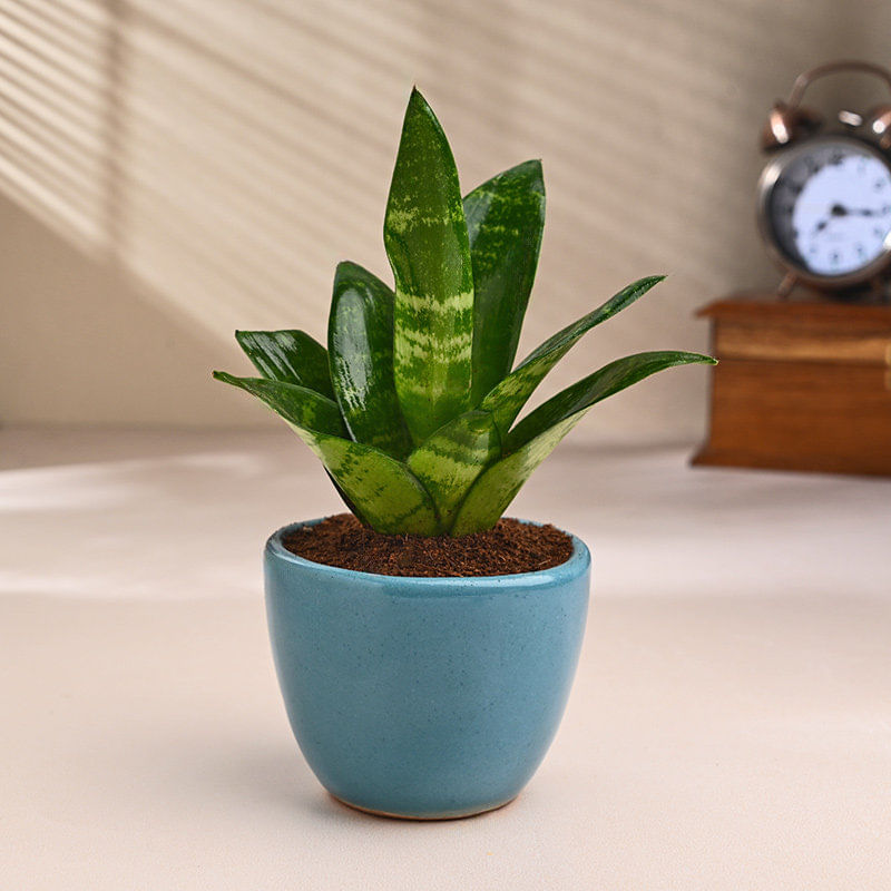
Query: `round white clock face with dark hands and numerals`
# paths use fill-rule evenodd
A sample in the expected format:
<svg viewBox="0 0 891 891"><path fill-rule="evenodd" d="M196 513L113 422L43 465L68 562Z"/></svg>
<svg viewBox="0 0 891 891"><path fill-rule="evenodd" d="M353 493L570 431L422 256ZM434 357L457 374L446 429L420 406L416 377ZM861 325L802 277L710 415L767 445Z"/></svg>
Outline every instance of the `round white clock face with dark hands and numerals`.
<svg viewBox="0 0 891 891"><path fill-rule="evenodd" d="M780 163L767 198L781 252L806 273L851 276L891 251L891 167L855 139L814 139Z"/></svg>

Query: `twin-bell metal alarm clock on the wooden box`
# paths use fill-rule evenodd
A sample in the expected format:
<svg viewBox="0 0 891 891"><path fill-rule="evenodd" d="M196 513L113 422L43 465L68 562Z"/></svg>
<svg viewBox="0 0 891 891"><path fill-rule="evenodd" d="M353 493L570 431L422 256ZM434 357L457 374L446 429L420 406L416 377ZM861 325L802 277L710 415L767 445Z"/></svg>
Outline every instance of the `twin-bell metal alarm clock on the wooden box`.
<svg viewBox="0 0 891 891"><path fill-rule="evenodd" d="M891 277L891 102L865 115L842 110L835 128L801 105L817 78L841 71L891 72L838 61L800 75L777 100L762 135L771 157L757 186L761 234L785 271L777 293L802 283L829 296L885 294Z"/></svg>

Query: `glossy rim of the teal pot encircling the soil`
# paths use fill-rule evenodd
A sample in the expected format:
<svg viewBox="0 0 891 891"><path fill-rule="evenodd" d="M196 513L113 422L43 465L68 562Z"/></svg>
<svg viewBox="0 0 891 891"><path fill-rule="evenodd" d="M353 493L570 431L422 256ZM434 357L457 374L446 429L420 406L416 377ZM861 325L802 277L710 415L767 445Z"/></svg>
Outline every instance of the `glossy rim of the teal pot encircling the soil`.
<svg viewBox="0 0 891 891"><path fill-rule="evenodd" d="M480 588L498 589L509 585L511 589L522 588L525 590L535 590L536 588L552 588L555 585L569 581L570 579L578 578L584 575L591 562L591 555L587 545L577 536L571 532L565 532L572 539L572 554L568 560L558 566L552 566L549 569L536 569L532 572L512 572L503 576L386 576L380 572L364 572L359 569L344 569L340 566L329 566L327 564L317 564L313 560L307 560L304 557L298 557L292 554L282 544L282 538L288 532L300 529L304 526L315 526L322 522L327 517L319 517L313 520L303 520L292 522L283 526L273 532L266 540L266 554L277 560L294 564L305 569L316 572L325 572L340 576L344 580L356 579L376 581L385 584L391 589L403 589L405 591L417 591L418 588L442 588L448 587L450 593L472 594L479 595ZM519 522L529 523L531 526L542 526L535 520L523 520L517 518ZM565 531L565 530L560 530Z"/></svg>

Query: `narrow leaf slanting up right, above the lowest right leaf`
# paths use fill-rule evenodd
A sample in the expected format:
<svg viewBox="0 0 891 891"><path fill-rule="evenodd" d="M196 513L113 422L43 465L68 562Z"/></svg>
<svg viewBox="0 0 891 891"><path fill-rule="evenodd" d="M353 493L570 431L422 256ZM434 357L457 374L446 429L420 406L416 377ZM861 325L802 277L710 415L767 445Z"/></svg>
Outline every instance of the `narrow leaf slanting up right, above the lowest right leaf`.
<svg viewBox="0 0 891 891"><path fill-rule="evenodd" d="M601 306L548 337L501 383L490 390L480 403L480 408L492 412L502 438L545 375L575 346L582 334L621 312L664 277L664 275L652 275L623 288Z"/></svg>

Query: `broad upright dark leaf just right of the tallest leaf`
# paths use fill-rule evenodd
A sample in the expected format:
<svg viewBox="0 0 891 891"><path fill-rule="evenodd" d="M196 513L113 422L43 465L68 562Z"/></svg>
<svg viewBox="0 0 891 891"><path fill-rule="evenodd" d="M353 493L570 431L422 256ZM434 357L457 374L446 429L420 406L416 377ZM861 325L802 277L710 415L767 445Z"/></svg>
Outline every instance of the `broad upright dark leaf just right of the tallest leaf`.
<svg viewBox="0 0 891 891"><path fill-rule="evenodd" d="M473 264L473 398L513 365L545 228L541 161L528 160L464 197Z"/></svg>

